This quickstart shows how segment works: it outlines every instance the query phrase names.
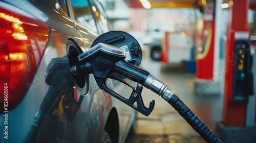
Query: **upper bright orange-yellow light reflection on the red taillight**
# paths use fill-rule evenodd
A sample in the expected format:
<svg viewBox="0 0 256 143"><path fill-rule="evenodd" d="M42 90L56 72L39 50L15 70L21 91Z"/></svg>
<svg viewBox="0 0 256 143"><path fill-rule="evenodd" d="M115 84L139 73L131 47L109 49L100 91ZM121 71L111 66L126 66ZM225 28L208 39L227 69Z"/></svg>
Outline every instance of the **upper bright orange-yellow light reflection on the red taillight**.
<svg viewBox="0 0 256 143"><path fill-rule="evenodd" d="M28 37L24 33L24 29L22 27L22 21L20 21L18 18L15 18L5 13L0 13L0 18L3 18L7 21L12 22L12 28L14 31L7 30L6 33L10 33L10 34L12 33L12 37L16 40L28 39Z"/></svg>

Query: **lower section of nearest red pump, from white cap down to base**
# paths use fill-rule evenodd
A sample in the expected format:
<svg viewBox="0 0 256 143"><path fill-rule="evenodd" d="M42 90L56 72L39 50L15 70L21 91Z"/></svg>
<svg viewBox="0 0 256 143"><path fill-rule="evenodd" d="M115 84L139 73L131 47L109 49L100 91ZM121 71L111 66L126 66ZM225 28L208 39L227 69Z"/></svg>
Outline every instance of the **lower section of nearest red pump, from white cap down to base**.
<svg viewBox="0 0 256 143"><path fill-rule="evenodd" d="M246 35L249 33L234 32L234 40L226 51L229 56L226 58L222 121L216 127L223 142L250 142L256 133L255 98L250 98L255 97L254 51L250 40L242 38ZM254 124L248 124L253 118Z"/></svg>

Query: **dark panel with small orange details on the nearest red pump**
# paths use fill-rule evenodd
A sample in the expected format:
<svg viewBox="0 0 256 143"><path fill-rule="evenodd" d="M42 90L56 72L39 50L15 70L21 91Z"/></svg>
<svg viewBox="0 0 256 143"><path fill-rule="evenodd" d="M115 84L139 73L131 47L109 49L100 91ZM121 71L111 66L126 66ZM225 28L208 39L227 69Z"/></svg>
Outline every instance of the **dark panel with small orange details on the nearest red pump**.
<svg viewBox="0 0 256 143"><path fill-rule="evenodd" d="M232 101L248 102L249 96L254 94L249 39L234 41L233 64Z"/></svg>

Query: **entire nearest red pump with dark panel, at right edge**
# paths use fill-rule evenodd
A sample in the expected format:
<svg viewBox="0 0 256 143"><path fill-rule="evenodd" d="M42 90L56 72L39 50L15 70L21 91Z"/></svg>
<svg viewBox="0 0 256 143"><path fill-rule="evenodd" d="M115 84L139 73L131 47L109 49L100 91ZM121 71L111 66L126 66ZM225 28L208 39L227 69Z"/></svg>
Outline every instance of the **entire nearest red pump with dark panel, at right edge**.
<svg viewBox="0 0 256 143"><path fill-rule="evenodd" d="M249 1L233 0L230 4L223 112L216 130L223 142L251 142L255 140L256 122L255 95L250 97L255 94L255 63L248 30ZM253 120L252 124L248 124L249 120Z"/></svg>

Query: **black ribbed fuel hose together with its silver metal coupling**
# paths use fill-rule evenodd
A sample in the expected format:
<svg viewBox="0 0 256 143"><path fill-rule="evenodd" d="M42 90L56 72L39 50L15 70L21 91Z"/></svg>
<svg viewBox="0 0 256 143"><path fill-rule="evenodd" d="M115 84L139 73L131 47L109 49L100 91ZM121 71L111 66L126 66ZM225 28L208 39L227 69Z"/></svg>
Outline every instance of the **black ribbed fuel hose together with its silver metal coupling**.
<svg viewBox="0 0 256 143"><path fill-rule="evenodd" d="M220 143L221 140L212 132L206 124L175 94L174 90L168 87L165 83L149 75L144 83L144 86L160 97L166 100L174 107L176 111L185 119L185 121L198 133L201 137L210 143Z"/></svg>

